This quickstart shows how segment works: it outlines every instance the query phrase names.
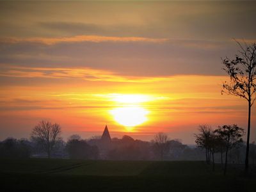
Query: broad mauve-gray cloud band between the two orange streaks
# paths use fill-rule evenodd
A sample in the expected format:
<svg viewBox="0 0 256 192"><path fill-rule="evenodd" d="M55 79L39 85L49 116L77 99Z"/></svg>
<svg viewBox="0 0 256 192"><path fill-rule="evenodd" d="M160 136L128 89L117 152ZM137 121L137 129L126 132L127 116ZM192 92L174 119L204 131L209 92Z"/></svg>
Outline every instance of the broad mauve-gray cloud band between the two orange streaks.
<svg viewBox="0 0 256 192"><path fill-rule="evenodd" d="M150 42L74 42L56 45L0 45L2 65L90 67L123 76L221 75L221 56L234 56L234 42L169 40Z"/></svg>

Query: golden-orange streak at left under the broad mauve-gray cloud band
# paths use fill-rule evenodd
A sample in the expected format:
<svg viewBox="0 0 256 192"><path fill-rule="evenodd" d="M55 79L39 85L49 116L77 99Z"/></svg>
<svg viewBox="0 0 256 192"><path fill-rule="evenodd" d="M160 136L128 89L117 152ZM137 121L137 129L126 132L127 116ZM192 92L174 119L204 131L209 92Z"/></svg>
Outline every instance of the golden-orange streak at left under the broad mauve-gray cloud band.
<svg viewBox="0 0 256 192"><path fill-rule="evenodd" d="M85 81L111 81L150 83L156 81L170 81L170 77L133 77L119 76L107 70L92 68L43 68L43 67L2 67L0 76L24 78L70 78Z"/></svg>

